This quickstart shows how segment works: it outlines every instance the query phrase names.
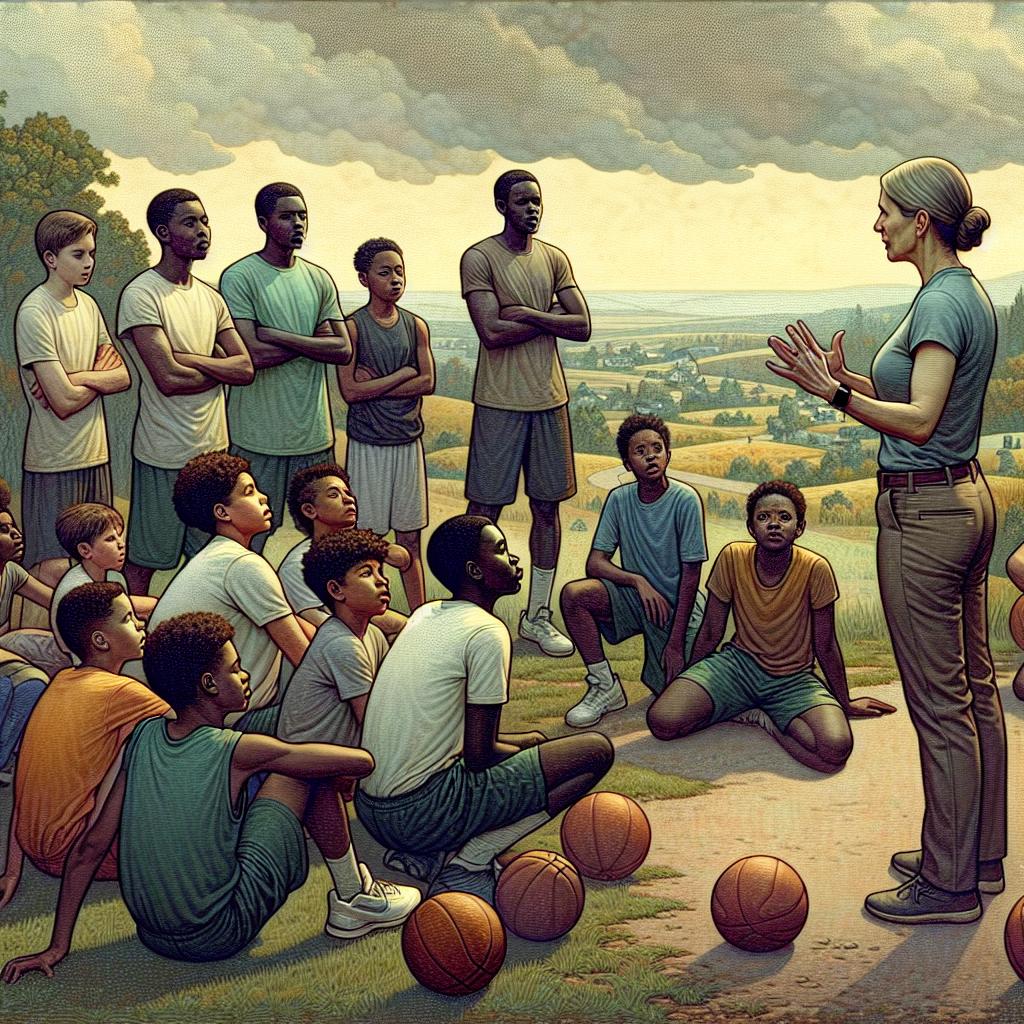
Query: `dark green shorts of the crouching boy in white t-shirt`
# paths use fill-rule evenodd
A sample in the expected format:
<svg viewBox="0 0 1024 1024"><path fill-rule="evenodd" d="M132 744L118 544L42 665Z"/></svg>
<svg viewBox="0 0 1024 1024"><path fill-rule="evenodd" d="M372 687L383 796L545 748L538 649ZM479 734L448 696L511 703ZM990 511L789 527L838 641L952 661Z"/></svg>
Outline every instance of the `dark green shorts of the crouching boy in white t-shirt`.
<svg viewBox="0 0 1024 1024"><path fill-rule="evenodd" d="M460 758L397 797L355 791L355 811L378 843L411 853L460 849L476 836L521 821L548 806L548 787L536 746L483 771Z"/></svg>

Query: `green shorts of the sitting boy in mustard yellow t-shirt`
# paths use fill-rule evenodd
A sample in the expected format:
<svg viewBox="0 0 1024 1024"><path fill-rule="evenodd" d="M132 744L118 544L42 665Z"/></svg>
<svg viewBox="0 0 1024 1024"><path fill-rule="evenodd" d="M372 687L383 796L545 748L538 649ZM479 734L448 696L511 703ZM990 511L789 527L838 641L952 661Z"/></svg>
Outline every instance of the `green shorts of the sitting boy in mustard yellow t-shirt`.
<svg viewBox="0 0 1024 1024"><path fill-rule="evenodd" d="M755 657L732 643L691 665L682 678L708 691L715 706L709 725L760 708L779 731L785 732L795 718L812 708L841 707L810 669L771 676Z"/></svg>

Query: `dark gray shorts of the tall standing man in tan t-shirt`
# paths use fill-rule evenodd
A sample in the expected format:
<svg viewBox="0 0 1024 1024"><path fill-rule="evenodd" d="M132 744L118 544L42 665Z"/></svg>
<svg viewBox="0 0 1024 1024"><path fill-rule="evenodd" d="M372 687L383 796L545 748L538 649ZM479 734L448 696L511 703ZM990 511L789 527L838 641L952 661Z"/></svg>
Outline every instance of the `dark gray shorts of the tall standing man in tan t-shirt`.
<svg viewBox="0 0 1024 1024"><path fill-rule="evenodd" d="M568 406L539 413L474 407L466 498L481 505L511 505L520 467L529 498L561 502L575 494Z"/></svg>

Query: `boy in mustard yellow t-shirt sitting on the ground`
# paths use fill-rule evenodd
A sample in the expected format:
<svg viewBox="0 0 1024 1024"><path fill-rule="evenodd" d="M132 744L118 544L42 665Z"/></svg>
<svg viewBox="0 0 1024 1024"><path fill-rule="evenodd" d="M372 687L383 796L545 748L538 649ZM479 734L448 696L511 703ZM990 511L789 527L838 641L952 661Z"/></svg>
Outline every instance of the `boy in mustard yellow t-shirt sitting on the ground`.
<svg viewBox="0 0 1024 1024"><path fill-rule="evenodd" d="M836 577L826 559L795 543L806 510L800 489L784 480L748 497L754 543L727 544L715 562L690 662L647 712L658 739L754 711L801 764L836 772L853 750L847 718L896 710L873 697L850 699L836 637ZM736 631L719 650L730 610Z"/></svg>

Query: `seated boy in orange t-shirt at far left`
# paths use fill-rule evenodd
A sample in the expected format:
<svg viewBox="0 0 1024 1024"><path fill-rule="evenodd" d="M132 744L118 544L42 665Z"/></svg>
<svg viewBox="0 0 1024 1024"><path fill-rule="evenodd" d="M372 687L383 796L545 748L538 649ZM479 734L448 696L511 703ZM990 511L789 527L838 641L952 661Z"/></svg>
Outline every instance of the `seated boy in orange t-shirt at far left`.
<svg viewBox="0 0 1024 1024"><path fill-rule="evenodd" d="M142 656L145 634L119 584L70 591L57 608L57 626L82 664L54 676L26 727L0 907L14 896L26 854L41 871L60 876L68 851L106 798L111 769L132 729L169 710L142 683L120 675L126 662ZM117 877L115 845L96 878Z"/></svg>

